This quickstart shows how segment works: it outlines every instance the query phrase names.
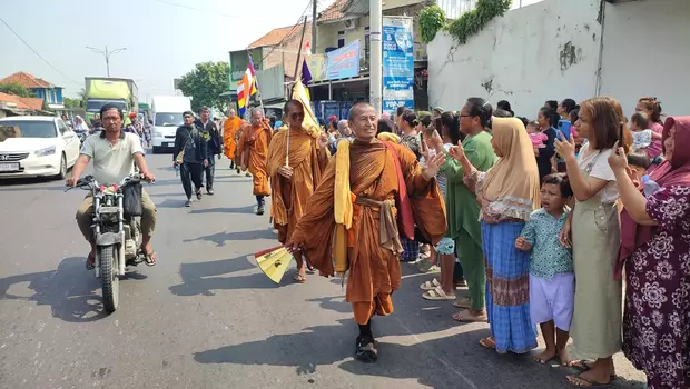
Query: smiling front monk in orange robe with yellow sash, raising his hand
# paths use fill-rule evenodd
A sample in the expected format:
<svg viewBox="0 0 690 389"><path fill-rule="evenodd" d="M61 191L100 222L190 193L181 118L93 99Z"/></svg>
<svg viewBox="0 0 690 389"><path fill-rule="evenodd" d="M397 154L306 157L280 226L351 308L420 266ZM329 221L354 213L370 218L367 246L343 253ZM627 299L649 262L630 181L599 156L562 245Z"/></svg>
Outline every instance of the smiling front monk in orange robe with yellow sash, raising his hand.
<svg viewBox="0 0 690 389"><path fill-rule="evenodd" d="M376 119L368 103L349 110L356 138L338 144L286 243L322 276L348 271L346 299L359 326L356 358L363 362L378 358L371 319L393 312L391 293L401 286L400 236L414 237L416 222L435 245L446 228L435 180L445 156L422 169L412 151L376 139Z"/></svg>

